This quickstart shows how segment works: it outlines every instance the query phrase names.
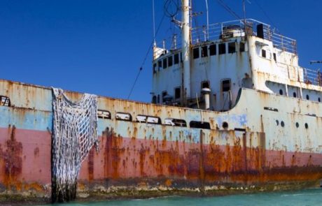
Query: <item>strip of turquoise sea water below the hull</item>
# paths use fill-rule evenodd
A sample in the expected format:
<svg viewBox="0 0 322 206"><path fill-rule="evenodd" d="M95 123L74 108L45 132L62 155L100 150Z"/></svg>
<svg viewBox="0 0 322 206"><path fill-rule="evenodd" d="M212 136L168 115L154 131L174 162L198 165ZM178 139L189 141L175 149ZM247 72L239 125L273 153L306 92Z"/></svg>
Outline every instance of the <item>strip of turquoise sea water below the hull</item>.
<svg viewBox="0 0 322 206"><path fill-rule="evenodd" d="M59 204L58 204L59 205ZM94 205L94 206L159 206L159 205L321 205L322 189L307 189L303 191L256 193L235 196L207 197L207 198L188 198L188 197L164 197L151 198L145 200L109 200L104 202L92 203L69 203L61 204L64 206Z"/></svg>

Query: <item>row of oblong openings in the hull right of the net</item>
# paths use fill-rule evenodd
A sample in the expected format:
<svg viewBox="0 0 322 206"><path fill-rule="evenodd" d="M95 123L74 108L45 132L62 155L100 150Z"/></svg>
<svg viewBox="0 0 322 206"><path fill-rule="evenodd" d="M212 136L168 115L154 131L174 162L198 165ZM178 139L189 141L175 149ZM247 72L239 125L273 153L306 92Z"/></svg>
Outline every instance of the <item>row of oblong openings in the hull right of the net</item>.
<svg viewBox="0 0 322 206"><path fill-rule="evenodd" d="M98 115L99 119L111 119L111 112L106 111L106 110L99 110L97 112L97 115ZM121 120L121 121L125 121L125 122L132 122L132 115L130 115L129 113L117 112L116 113L116 120ZM148 123L148 124L162 124L160 117L153 117L153 116L146 116L146 115L137 115L135 122ZM187 127L186 120L174 119L174 118L165 119L164 125ZM190 126L190 128L211 129L209 122L190 121L189 126ZM227 122L223 122L222 126L224 129L228 129Z"/></svg>

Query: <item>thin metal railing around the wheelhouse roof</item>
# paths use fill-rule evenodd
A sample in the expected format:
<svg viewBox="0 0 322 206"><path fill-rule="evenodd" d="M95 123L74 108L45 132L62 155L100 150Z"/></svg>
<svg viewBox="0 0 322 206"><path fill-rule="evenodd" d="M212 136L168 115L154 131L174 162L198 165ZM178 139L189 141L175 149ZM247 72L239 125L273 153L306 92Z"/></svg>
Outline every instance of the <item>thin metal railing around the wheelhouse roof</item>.
<svg viewBox="0 0 322 206"><path fill-rule="evenodd" d="M272 41L274 47L293 54L297 53L297 43L294 39L282 36L276 33L275 29L272 29L269 24L253 19L246 20L246 27L244 20L209 24L209 29L207 29L207 26L194 27L191 29L191 43L194 45L206 41L228 38L230 37L228 31L233 32L237 36L244 36L244 34L257 36L258 25L262 25L264 28L263 38ZM158 42L158 47L163 47L165 50L176 50L181 47L181 36L175 34L164 39L162 42Z"/></svg>

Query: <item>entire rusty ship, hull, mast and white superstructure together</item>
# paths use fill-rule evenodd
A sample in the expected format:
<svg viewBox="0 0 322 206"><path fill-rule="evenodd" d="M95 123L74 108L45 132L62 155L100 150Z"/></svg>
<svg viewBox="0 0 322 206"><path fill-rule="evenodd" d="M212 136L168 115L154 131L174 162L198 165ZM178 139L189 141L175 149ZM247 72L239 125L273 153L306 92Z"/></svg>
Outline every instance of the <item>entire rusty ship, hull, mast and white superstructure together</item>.
<svg viewBox="0 0 322 206"><path fill-rule="evenodd" d="M153 103L97 97L99 152L86 151L78 197L316 186L321 74L298 66L296 41L255 20L191 29L188 0L181 10L181 46L153 49ZM0 80L0 98L0 197L50 197L52 88Z"/></svg>

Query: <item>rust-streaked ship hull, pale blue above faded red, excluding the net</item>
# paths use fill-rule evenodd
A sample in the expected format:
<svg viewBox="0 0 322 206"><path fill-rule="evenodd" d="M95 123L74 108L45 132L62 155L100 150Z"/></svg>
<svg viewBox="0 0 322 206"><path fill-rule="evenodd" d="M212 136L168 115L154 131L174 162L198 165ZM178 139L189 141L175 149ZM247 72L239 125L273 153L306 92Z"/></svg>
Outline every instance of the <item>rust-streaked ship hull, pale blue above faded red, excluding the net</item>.
<svg viewBox="0 0 322 206"><path fill-rule="evenodd" d="M0 106L1 194L48 197L51 90L1 80L0 95L10 98L10 105ZM67 95L74 100L81 96ZM257 104L250 110L253 101ZM267 106L279 112L265 110ZM302 110L292 112L295 108ZM258 189L322 179L320 103L242 89L237 106L229 112L104 97L99 97L99 110L111 112L111 119L99 119L99 152L93 148L82 164L80 193ZM210 122L211 129L120 121L114 118L116 112L160 117L162 122L167 117L202 119ZM316 117L304 115L312 112ZM285 126L276 126L276 119ZM228 128L222 128L223 122Z"/></svg>

